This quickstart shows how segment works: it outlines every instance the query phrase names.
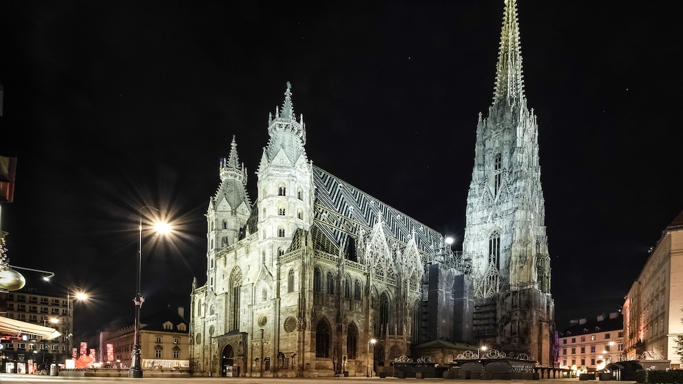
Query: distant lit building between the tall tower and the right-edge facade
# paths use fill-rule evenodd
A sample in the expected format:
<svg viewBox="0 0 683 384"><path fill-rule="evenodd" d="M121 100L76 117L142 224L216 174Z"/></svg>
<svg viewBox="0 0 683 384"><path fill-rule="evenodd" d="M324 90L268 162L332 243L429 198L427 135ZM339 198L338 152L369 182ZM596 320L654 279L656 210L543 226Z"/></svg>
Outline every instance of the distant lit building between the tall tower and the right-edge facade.
<svg viewBox="0 0 683 384"><path fill-rule="evenodd" d="M609 363L625 360L623 322L619 312L572 320L569 328L559 332L560 368L596 372Z"/></svg>

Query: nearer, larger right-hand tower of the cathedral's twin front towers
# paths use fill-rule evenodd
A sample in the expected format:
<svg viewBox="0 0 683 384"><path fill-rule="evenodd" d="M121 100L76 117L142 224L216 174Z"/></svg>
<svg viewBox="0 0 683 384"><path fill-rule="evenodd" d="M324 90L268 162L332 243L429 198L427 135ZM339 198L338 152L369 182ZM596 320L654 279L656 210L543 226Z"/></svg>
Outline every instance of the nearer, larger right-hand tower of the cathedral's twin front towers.
<svg viewBox="0 0 683 384"><path fill-rule="evenodd" d="M297 228L313 222L313 164L306 157L304 116L296 120L291 84L287 82L282 109L269 114L270 140L258 168L258 236L261 263L283 255Z"/></svg>

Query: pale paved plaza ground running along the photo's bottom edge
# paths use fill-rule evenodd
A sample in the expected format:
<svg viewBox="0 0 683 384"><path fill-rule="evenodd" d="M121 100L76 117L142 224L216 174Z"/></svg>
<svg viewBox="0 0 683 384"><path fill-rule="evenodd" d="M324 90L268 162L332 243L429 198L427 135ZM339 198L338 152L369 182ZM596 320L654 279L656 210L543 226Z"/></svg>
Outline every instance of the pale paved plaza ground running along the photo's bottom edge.
<svg viewBox="0 0 683 384"><path fill-rule="evenodd" d="M178 384L294 384L294 383L324 383L324 384L403 384L414 383L416 381L427 383L453 384L478 383L478 384L578 384L578 378L560 378L545 380L444 380L443 378L253 378L253 377L193 377L193 378L99 378L99 377L56 377L39 376L30 374L0 374L1 384L14 383L87 383L87 384L107 384L107 383L178 383ZM595 383L594 381L582 381L582 383ZM633 384L635 381L614 381L614 384ZM446 383L444 383L446 384Z"/></svg>

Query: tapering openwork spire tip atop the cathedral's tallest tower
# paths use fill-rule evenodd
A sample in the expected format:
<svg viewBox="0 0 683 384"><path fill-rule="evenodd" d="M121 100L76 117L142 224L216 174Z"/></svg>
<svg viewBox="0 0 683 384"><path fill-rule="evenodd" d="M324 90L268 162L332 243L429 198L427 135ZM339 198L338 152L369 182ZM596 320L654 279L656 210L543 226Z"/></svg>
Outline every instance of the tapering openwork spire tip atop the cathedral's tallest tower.
<svg viewBox="0 0 683 384"><path fill-rule="evenodd" d="M516 0L505 0L501 46L498 49L496 65L493 105L504 100L507 100L509 105L525 102Z"/></svg>

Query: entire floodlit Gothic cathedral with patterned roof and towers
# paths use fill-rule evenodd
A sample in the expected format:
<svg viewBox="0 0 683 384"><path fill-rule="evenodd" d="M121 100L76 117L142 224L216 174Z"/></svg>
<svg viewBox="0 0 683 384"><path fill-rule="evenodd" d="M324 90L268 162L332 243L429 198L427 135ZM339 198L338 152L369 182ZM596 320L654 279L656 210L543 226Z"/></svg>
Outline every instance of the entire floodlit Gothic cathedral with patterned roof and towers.
<svg viewBox="0 0 683 384"><path fill-rule="evenodd" d="M291 86L246 192L235 138L207 209L207 276L191 291L196 375L390 372L420 345L490 345L554 361L554 303L516 3L505 1L496 91L480 114L463 252L306 156ZM438 321L437 321L438 320ZM372 341L372 343L371 343Z"/></svg>

